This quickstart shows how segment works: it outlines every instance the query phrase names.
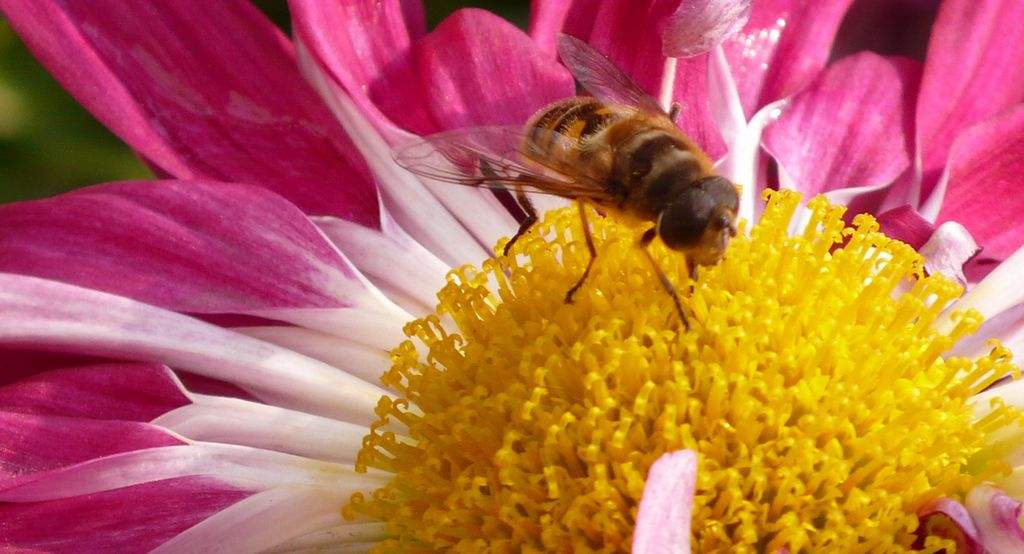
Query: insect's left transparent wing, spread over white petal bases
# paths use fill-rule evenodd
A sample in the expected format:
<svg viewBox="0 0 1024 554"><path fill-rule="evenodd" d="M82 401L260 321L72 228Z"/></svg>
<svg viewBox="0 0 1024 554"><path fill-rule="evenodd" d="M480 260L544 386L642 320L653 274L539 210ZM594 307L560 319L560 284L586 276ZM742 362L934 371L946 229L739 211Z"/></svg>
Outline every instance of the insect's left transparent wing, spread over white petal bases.
<svg viewBox="0 0 1024 554"><path fill-rule="evenodd" d="M599 176L583 167L524 153L525 144L570 148L571 139L546 129L472 127L428 136L395 150L399 166L427 178L466 186L506 188L579 198L610 199ZM528 140L527 140L528 138Z"/></svg>

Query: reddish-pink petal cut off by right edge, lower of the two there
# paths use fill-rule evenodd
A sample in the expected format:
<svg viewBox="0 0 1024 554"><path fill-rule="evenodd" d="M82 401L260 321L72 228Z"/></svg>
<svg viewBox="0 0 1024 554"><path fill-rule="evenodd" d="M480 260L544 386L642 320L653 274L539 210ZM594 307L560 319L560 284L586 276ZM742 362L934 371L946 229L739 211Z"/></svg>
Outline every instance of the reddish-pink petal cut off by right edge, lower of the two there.
<svg viewBox="0 0 1024 554"><path fill-rule="evenodd" d="M984 248L984 258L1001 260L1024 245L1024 106L957 137L947 172L936 189L943 195L938 223L963 223Z"/></svg>

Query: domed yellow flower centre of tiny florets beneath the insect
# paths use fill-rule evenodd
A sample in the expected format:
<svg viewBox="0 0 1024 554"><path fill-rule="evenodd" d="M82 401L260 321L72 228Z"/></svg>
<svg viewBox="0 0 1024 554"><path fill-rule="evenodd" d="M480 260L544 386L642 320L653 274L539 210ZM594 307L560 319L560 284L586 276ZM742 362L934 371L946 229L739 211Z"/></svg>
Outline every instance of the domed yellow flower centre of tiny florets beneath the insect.
<svg viewBox="0 0 1024 554"><path fill-rule="evenodd" d="M1005 348L944 357L981 324L933 325L961 293L869 216L767 195L760 222L691 282L642 228L550 212L510 256L449 275L391 354L357 469L392 474L343 513L386 522L381 552L628 551L647 469L698 456L695 552L902 552L919 507L1009 471L1022 415L971 397L1014 375ZM501 252L501 244L497 252ZM919 547L921 546L919 542ZM925 551L951 548L938 538Z"/></svg>

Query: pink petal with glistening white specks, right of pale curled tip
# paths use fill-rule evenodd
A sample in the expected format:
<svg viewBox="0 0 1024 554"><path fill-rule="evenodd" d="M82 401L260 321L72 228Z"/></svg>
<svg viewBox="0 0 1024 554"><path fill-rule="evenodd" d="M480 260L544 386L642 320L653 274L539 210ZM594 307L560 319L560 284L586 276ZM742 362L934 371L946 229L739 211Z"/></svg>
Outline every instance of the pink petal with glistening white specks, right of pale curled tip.
<svg viewBox="0 0 1024 554"><path fill-rule="evenodd" d="M853 0L757 0L723 44L748 114L791 96L824 69Z"/></svg>

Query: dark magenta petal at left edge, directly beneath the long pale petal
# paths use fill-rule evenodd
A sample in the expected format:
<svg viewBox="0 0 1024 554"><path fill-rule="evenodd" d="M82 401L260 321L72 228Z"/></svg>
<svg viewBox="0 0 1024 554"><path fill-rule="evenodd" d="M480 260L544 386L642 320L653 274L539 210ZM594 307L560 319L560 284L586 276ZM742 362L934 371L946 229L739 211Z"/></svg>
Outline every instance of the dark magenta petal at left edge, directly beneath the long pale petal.
<svg viewBox="0 0 1024 554"><path fill-rule="evenodd" d="M152 364L62 368L0 386L3 410L38 416L144 422L189 401L174 374Z"/></svg>

